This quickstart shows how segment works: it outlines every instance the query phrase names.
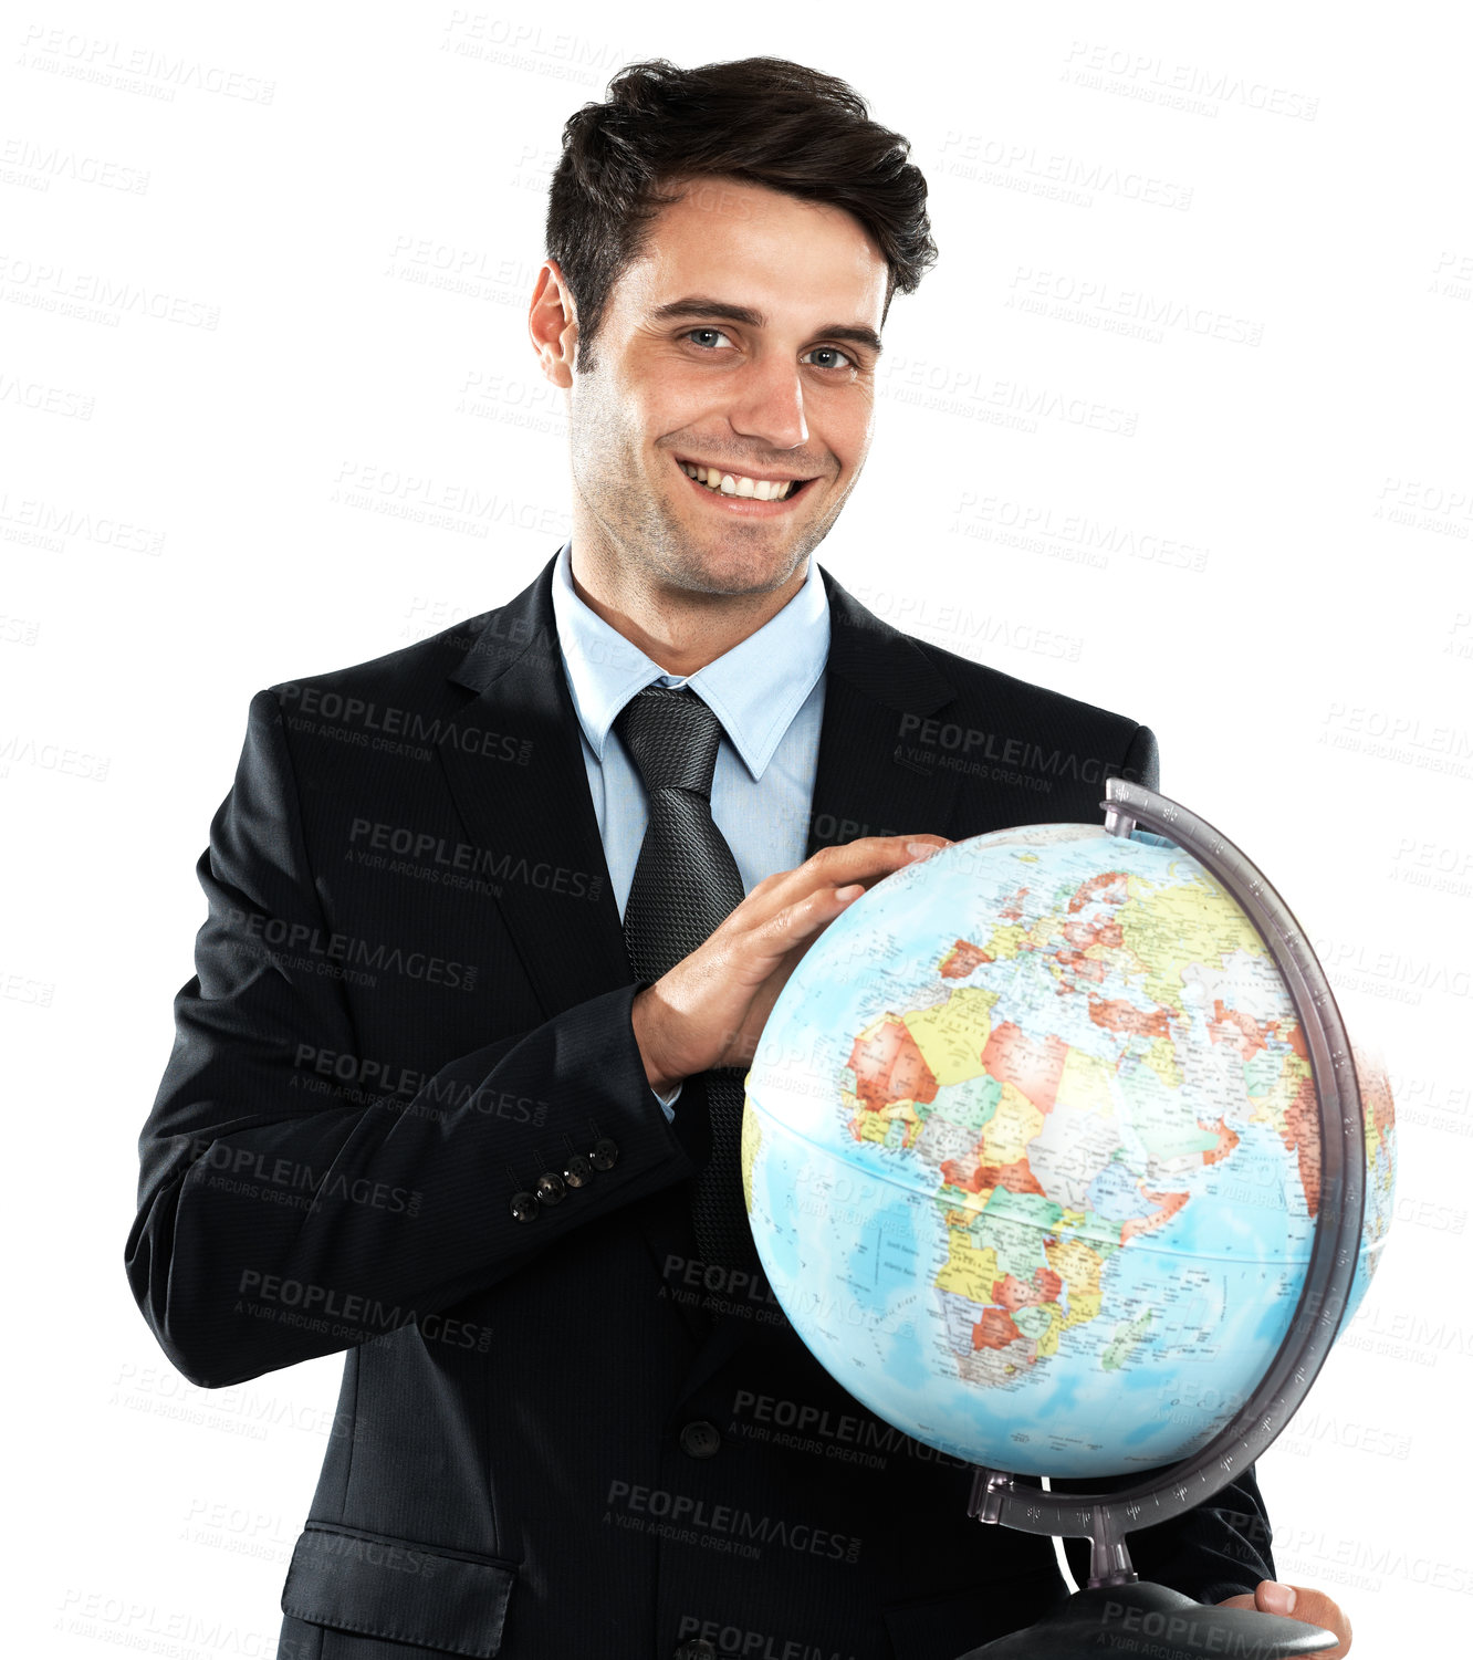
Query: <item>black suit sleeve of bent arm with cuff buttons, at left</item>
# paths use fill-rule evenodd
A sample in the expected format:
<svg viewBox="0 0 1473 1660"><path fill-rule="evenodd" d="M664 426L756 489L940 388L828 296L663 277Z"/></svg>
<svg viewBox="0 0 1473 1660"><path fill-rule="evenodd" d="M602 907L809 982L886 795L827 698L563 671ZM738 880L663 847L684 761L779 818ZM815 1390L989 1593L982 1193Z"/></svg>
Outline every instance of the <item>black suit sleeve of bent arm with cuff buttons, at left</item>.
<svg viewBox="0 0 1473 1660"><path fill-rule="evenodd" d="M125 1250L144 1320L193 1383L241 1383L447 1308L707 1157L692 1092L671 1124L644 1076L643 983L448 1059L412 1099L299 1064L304 1044L375 1049L342 979L291 951L327 926L271 692L251 702L198 875L209 910L138 1142ZM614 1142L613 1169L518 1222L513 1192L596 1137Z"/></svg>

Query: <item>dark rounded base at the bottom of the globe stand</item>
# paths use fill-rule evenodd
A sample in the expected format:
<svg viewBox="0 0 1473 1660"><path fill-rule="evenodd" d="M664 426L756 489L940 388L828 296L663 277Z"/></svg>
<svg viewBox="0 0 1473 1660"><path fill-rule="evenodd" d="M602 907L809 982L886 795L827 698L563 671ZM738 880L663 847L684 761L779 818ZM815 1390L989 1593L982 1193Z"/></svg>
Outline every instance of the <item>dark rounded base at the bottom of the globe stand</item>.
<svg viewBox="0 0 1473 1660"><path fill-rule="evenodd" d="M1055 1614L996 1642L970 1648L960 1660L1079 1660L1101 1648L1152 1660L1197 1660L1207 1655L1252 1655L1289 1660L1334 1648L1338 1638L1320 1625L1192 1602L1166 1585L1138 1580L1078 1590Z"/></svg>

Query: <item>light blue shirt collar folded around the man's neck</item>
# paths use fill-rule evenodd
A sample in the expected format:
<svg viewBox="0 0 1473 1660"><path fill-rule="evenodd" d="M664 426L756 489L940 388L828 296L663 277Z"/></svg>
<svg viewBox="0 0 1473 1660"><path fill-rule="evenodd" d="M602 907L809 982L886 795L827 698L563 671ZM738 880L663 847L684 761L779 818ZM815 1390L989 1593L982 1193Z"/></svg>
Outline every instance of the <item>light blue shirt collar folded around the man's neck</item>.
<svg viewBox="0 0 1473 1660"><path fill-rule="evenodd" d="M656 682L688 684L721 720L752 779L761 779L829 661L829 593L812 554L792 599L691 676L666 674L578 598L571 541L558 548L553 568L553 621L573 709L599 762L614 717L636 692Z"/></svg>

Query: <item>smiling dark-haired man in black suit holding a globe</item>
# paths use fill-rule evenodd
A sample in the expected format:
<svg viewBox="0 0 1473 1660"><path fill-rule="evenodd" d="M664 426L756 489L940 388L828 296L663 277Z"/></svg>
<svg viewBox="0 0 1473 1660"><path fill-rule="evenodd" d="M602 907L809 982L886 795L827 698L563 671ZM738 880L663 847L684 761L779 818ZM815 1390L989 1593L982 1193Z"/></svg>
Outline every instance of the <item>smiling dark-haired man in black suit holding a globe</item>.
<svg viewBox="0 0 1473 1660"><path fill-rule="evenodd" d="M905 148L782 60L626 70L568 123L528 319L570 543L251 704L128 1273L201 1384L345 1351L284 1655L950 1660L1064 1590L820 1371L732 1215L732 1079L845 905L1156 784L1148 727L810 558L935 254ZM942 765L942 725L1010 764ZM1133 1547L1279 1594L1252 1471Z"/></svg>

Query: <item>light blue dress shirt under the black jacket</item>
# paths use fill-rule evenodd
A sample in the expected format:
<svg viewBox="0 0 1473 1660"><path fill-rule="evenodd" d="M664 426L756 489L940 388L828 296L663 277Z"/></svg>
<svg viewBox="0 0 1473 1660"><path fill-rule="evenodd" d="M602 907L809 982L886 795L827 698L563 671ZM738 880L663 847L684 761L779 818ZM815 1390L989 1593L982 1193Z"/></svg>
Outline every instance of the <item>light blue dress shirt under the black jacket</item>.
<svg viewBox="0 0 1473 1660"><path fill-rule="evenodd" d="M817 561L787 604L756 634L694 674L666 674L573 588L573 543L553 568L553 619L583 734L588 792L623 921L644 840L644 785L613 730L614 715L646 686L689 686L721 720L711 817L726 837L742 891L804 862L829 661L829 594ZM681 1086L654 1096L668 1119Z"/></svg>

